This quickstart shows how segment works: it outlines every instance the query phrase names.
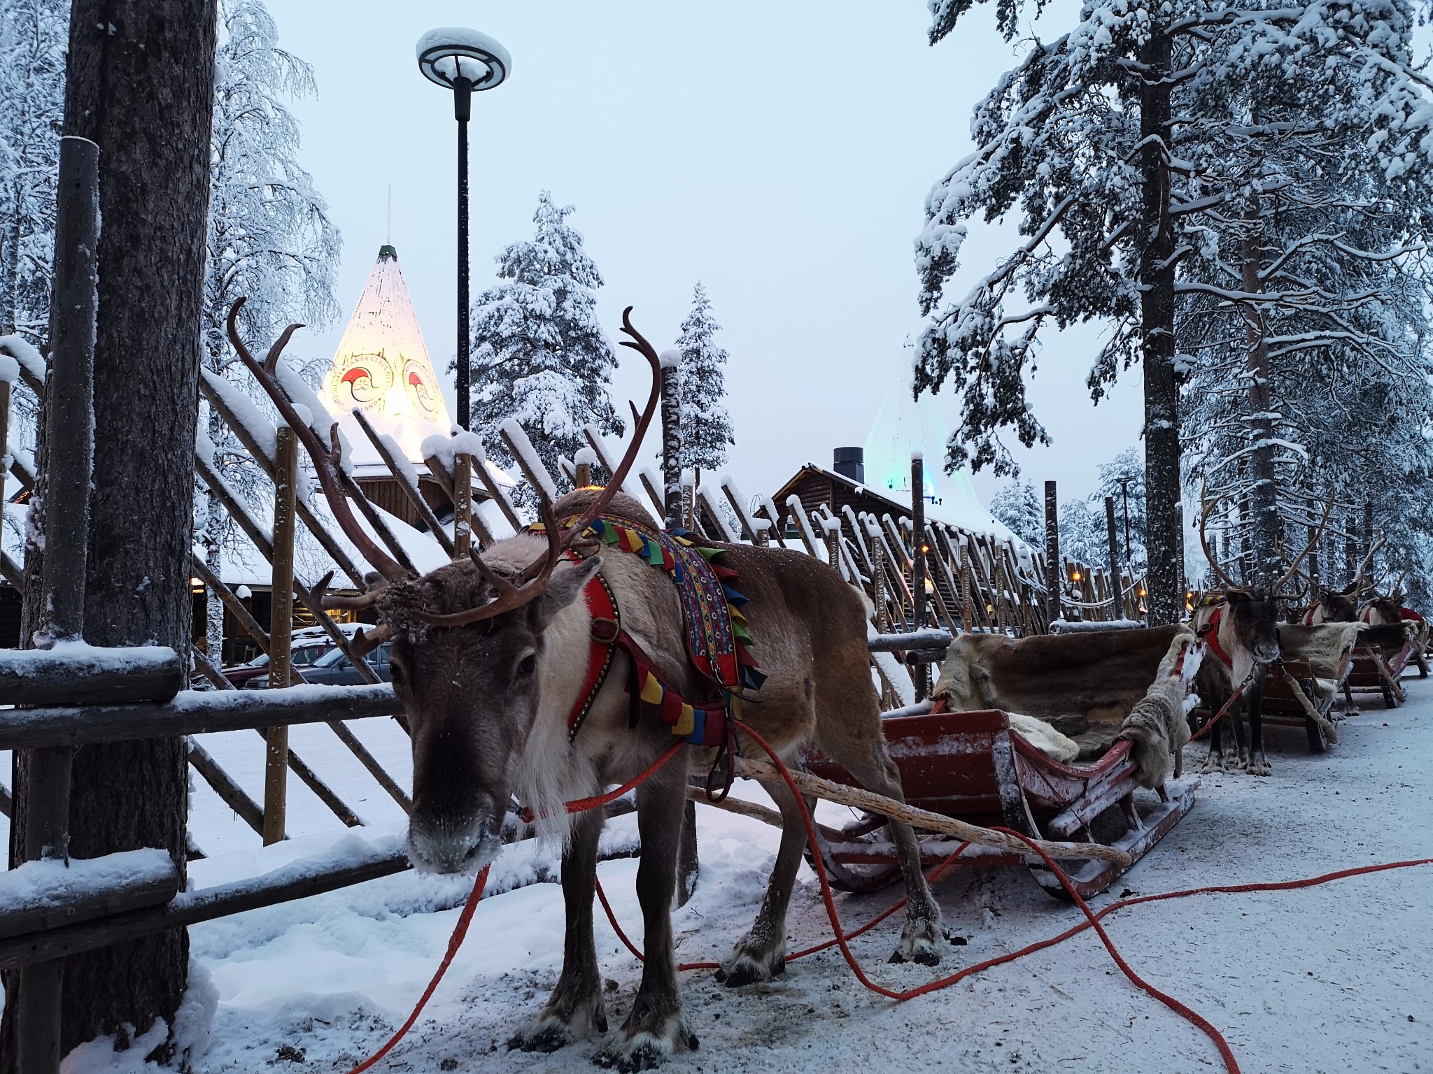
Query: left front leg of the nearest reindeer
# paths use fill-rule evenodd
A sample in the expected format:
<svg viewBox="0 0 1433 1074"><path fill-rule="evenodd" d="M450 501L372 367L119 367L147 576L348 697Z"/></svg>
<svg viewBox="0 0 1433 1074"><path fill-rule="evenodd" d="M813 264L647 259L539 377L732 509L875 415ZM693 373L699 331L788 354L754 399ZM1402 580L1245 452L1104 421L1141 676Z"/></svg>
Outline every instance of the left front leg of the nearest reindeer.
<svg viewBox="0 0 1433 1074"><path fill-rule="evenodd" d="M608 1031L602 972L592 938L592 898L598 879L598 838L602 835L602 823L600 809L592 809L573 821L572 842L562 853L562 901L567 908L562 975L542 1012L507 1041L509 1051L556 1051L576 1040Z"/></svg>

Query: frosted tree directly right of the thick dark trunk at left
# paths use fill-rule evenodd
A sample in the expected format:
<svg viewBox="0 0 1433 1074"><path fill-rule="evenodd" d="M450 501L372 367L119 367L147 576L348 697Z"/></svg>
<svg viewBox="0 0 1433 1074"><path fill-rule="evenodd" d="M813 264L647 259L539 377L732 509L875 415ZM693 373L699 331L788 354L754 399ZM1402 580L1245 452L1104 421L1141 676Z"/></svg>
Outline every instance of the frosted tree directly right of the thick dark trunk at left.
<svg viewBox="0 0 1433 1074"><path fill-rule="evenodd" d="M232 378L265 411L268 401L225 337L234 301L246 298L239 321L248 339L275 339L295 321L324 325L340 312L334 282L341 239L298 162L299 126L287 103L315 89L312 69L278 47L278 27L261 0L221 3L203 364L209 372ZM267 498L262 474L216 412L205 415L205 431L229 484L255 500ZM198 540L218 574L224 548L235 547L239 537L208 490L201 490L195 507ZM206 644L218 654L224 607L212 593L206 610Z"/></svg>

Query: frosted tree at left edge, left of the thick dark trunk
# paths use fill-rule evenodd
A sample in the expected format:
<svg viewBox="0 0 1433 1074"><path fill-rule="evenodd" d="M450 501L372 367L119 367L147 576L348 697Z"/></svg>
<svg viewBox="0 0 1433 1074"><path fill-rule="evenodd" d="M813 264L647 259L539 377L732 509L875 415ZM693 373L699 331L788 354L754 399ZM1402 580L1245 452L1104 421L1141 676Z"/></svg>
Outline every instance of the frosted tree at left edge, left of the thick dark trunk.
<svg viewBox="0 0 1433 1074"><path fill-rule="evenodd" d="M49 337L67 0L0 0L0 335Z"/></svg>

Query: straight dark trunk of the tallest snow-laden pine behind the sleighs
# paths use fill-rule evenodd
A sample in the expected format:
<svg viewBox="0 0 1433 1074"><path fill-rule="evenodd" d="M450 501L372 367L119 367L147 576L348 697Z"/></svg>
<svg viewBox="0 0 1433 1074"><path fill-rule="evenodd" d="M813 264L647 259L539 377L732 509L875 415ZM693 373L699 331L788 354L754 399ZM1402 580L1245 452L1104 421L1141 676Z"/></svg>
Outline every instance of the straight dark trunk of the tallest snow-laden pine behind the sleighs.
<svg viewBox="0 0 1433 1074"><path fill-rule="evenodd" d="M1174 369L1174 231L1169 225L1169 37L1151 34L1139 50L1139 168L1144 182L1139 259L1142 361L1145 367L1145 548L1149 556L1149 626L1182 619L1179 589L1184 534L1176 507L1179 481L1179 385Z"/></svg>

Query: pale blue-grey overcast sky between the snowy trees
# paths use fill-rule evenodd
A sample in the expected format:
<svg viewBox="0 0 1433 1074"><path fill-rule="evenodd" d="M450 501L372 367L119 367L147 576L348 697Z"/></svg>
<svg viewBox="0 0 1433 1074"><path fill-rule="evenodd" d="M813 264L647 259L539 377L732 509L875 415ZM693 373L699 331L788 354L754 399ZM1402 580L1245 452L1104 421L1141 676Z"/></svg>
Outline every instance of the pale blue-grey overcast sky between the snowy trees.
<svg viewBox="0 0 1433 1074"><path fill-rule="evenodd" d="M473 102L473 294L496 282L493 256L532 235L545 189L576 206L613 341L632 305L633 324L672 345L701 281L731 354L727 470L747 494L863 444L886 394L909 385L924 198L970 152L970 110L1019 53L989 6L930 47L920 0L268 6L281 47L318 80L294 110L301 160L344 238L344 318L391 233L440 374L450 361L457 129L451 95L423 79L413 46L438 26L492 34L513 73ZM1045 37L1052 19L1035 27ZM953 292L1012 235L972 229ZM291 351L331 357L341 334L341 321L301 332ZM1139 440L1138 368L1098 408L1089 401L1098 349L1098 326L1046 338L1032 401L1055 442L1016 451L1022 475L1059 481L1062 500L1092 491L1096 464ZM648 382L639 357L620 357L625 411ZM949 392L939 405L956 418ZM983 497L1002 484L986 473L974 483Z"/></svg>

